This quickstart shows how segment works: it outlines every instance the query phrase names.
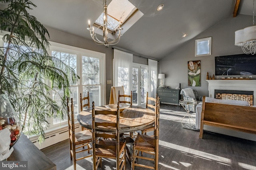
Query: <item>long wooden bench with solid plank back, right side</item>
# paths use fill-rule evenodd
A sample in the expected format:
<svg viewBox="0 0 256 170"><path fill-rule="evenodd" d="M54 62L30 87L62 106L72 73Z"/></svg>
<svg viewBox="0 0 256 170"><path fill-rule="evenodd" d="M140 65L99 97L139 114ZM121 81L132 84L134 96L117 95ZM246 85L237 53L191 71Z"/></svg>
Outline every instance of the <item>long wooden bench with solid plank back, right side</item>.
<svg viewBox="0 0 256 170"><path fill-rule="evenodd" d="M203 138L204 125L256 134L256 107L207 103L204 96L200 139Z"/></svg>

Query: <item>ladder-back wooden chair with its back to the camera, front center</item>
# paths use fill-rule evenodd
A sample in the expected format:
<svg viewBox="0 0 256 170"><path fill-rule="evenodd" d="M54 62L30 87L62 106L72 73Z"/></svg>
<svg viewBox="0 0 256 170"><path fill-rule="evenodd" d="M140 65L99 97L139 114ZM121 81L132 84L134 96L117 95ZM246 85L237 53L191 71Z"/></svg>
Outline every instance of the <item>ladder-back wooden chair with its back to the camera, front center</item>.
<svg viewBox="0 0 256 170"><path fill-rule="evenodd" d="M95 119L95 115L113 115L115 122L101 121ZM126 142L120 141L119 136L119 103L116 111L97 110L92 102L92 155L93 170L102 167L102 158L113 158L116 160L116 170L126 169ZM115 134L97 132L96 127L115 128Z"/></svg>

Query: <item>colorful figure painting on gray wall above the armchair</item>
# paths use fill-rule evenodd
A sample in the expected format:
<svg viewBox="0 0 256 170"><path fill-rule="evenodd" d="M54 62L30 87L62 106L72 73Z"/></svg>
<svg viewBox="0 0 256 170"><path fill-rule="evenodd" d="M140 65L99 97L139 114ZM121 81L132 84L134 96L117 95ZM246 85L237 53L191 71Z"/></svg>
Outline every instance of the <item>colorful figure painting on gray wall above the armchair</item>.
<svg viewBox="0 0 256 170"><path fill-rule="evenodd" d="M188 86L201 86L201 61L188 61Z"/></svg>

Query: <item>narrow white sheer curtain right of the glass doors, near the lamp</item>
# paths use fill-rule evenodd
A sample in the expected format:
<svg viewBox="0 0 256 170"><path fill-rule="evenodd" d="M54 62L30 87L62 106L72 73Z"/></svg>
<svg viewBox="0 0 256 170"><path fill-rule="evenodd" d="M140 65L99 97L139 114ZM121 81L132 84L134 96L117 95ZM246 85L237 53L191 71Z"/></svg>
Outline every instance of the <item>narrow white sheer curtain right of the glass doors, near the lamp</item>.
<svg viewBox="0 0 256 170"><path fill-rule="evenodd" d="M158 61L148 59L148 96L156 98Z"/></svg>

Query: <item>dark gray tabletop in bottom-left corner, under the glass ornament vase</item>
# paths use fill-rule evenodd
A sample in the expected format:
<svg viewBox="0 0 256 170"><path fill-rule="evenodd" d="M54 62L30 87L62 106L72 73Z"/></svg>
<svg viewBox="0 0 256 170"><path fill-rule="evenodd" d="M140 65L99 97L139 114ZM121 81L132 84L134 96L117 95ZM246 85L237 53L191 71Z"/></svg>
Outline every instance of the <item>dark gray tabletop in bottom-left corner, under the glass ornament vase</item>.
<svg viewBox="0 0 256 170"><path fill-rule="evenodd" d="M56 170L56 165L23 133L13 148L14 150L7 160L28 161L29 170Z"/></svg>

